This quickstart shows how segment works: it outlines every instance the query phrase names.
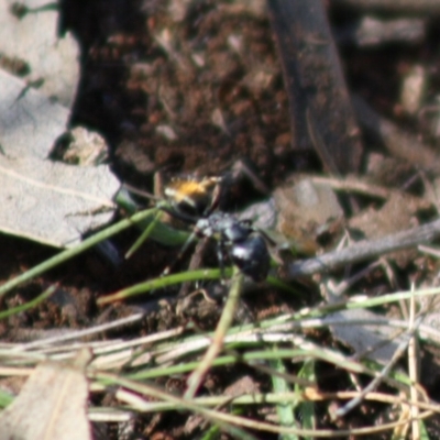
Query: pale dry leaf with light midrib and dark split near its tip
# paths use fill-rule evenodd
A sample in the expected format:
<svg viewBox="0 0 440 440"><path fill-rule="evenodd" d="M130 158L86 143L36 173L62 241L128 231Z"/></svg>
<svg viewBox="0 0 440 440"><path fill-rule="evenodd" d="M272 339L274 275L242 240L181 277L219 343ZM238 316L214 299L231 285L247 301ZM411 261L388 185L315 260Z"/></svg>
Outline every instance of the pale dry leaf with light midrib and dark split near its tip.
<svg viewBox="0 0 440 440"><path fill-rule="evenodd" d="M79 167L0 156L0 229L54 246L109 222L119 182L107 166Z"/></svg>

